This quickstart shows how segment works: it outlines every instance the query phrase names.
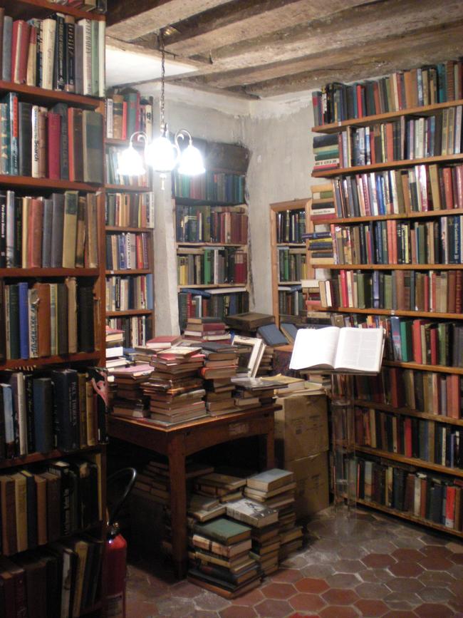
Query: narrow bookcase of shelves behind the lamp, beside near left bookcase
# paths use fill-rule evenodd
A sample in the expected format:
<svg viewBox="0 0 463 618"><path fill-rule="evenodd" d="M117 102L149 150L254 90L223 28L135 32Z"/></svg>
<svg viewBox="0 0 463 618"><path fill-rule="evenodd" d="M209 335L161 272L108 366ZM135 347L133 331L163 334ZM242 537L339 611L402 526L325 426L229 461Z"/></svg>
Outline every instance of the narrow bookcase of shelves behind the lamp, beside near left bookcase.
<svg viewBox="0 0 463 618"><path fill-rule="evenodd" d="M123 330L132 348L154 335L155 204L150 175L118 175L118 157L136 130L151 135L152 98L116 91L105 100L105 117L106 323Z"/></svg>

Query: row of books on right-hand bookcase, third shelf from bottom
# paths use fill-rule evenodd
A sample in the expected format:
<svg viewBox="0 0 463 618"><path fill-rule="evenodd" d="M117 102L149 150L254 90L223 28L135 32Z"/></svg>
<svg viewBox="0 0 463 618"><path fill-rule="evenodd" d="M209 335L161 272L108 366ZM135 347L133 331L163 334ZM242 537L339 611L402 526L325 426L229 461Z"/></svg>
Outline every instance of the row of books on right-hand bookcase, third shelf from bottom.
<svg viewBox="0 0 463 618"><path fill-rule="evenodd" d="M355 376L358 400L449 418L463 418L462 387L458 374L399 367L383 367L369 379Z"/></svg>

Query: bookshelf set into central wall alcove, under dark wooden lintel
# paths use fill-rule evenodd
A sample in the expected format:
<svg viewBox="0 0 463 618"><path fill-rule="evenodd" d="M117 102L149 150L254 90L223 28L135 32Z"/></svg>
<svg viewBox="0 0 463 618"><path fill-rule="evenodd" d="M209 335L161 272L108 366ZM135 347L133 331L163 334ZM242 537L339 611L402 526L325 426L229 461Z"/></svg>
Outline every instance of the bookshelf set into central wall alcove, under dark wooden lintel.
<svg viewBox="0 0 463 618"><path fill-rule="evenodd" d="M238 145L194 138L206 172L172 173L180 329L192 316L223 316L249 309L249 153Z"/></svg>

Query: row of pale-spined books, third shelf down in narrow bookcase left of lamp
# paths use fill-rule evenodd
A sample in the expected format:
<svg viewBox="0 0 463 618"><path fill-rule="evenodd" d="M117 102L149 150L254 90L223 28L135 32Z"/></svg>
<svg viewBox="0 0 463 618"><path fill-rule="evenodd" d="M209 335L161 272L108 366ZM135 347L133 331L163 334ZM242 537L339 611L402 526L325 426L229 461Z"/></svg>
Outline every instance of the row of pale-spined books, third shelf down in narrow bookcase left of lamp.
<svg viewBox="0 0 463 618"><path fill-rule="evenodd" d="M154 193L106 193L105 225L155 227Z"/></svg>

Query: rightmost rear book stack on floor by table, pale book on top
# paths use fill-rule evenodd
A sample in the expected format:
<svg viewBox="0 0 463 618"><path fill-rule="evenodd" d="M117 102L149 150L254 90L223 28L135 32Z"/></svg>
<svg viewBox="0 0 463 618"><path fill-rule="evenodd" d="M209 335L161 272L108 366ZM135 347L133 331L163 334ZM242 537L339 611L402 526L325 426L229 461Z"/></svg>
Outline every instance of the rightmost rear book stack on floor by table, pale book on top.
<svg viewBox="0 0 463 618"><path fill-rule="evenodd" d="M288 470L274 468L251 476L246 481L244 495L278 511L279 560L302 547L302 529L296 526L294 510L294 475Z"/></svg>

